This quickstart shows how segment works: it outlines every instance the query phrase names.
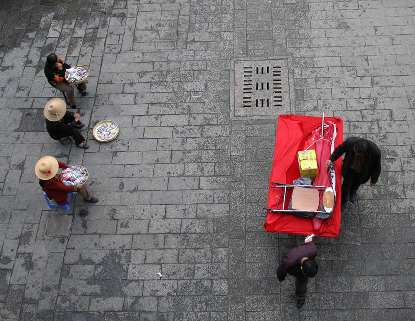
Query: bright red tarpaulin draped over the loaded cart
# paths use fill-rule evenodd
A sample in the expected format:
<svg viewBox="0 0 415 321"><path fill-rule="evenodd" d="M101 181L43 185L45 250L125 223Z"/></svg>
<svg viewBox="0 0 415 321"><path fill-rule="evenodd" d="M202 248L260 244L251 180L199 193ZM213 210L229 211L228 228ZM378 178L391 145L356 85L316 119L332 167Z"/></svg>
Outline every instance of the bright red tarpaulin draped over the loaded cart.
<svg viewBox="0 0 415 321"><path fill-rule="evenodd" d="M343 120L336 117L325 117L324 122L325 124L331 122L336 126L337 135L334 138L334 147L337 147L343 142ZM271 184L271 182L291 185L294 180L300 177L297 153L310 146L312 137L321 125L322 117L297 115L280 115L278 117L274 161L268 190L268 208L276 209L277 206L279 206L279 208L281 207L281 204L278 205L278 196L280 195L281 189L271 188L271 185L275 185ZM322 168L327 171L327 167L324 163L330 157L330 154L330 147L323 146L323 151L318 152L317 161L319 164L319 173ZM334 170L336 173L337 199L333 215L330 218L322 220L300 217L288 213L267 212L267 220L264 224L265 230L268 232L289 234L308 235L313 233L316 236L339 236L340 219L342 215L340 210L342 158L339 158L334 163ZM319 176L316 178L316 181L319 179Z"/></svg>

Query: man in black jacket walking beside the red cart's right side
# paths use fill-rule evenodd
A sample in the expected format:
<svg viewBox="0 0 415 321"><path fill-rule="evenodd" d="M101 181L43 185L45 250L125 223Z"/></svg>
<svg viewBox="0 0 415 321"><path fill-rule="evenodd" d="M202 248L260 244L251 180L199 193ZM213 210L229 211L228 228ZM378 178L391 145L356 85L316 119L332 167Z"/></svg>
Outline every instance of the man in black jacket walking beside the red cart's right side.
<svg viewBox="0 0 415 321"><path fill-rule="evenodd" d="M350 137L334 150L326 161L326 166L329 167L343 154L345 158L342 167L342 212L349 197L352 203L356 202L357 191L361 184L370 179L370 186L373 187L381 174L381 150L374 142Z"/></svg>

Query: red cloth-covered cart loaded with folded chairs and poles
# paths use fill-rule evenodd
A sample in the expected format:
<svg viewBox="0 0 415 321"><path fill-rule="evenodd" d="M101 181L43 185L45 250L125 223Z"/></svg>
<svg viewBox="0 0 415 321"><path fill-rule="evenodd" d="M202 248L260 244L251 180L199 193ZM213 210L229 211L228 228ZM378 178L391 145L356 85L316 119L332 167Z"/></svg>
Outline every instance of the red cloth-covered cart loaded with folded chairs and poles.
<svg viewBox="0 0 415 321"><path fill-rule="evenodd" d="M329 169L325 162L342 142L341 118L279 116L264 224L266 231L339 236L342 159ZM311 184L294 185L300 178L297 154L309 149L316 151L317 177Z"/></svg>

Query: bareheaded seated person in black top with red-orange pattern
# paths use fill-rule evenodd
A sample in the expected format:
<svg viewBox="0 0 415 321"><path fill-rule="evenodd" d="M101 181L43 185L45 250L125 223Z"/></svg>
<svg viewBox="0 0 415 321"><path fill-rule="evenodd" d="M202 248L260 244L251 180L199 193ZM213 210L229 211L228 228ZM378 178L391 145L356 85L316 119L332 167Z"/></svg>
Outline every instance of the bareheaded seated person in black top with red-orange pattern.
<svg viewBox="0 0 415 321"><path fill-rule="evenodd" d="M60 59L56 53L51 53L46 57L44 75L52 87L66 92L66 99L70 108L76 108L73 87L65 79L65 71L69 68L71 68L71 66ZM87 94L85 82L76 84L76 88L78 88L82 96Z"/></svg>

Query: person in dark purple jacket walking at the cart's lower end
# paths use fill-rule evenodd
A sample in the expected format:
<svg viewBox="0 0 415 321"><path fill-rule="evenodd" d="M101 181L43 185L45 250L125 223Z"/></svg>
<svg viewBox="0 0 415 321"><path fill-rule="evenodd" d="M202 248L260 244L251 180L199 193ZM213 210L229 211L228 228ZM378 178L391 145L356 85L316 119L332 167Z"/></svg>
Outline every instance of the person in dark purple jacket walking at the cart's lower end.
<svg viewBox="0 0 415 321"><path fill-rule="evenodd" d="M287 274L296 278L297 308L300 309L306 302L308 278L317 274L319 266L314 259L317 256L317 246L314 240L287 251L277 268L277 278L285 280Z"/></svg>

